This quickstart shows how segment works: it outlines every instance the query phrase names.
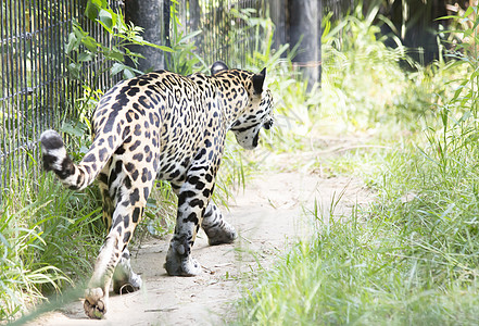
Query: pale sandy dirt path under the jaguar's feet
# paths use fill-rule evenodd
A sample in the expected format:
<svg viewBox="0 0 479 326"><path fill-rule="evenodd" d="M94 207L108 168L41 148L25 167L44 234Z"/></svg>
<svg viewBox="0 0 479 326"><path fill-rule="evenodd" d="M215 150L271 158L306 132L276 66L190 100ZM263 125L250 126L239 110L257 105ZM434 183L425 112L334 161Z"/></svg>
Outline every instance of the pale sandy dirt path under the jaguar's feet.
<svg viewBox="0 0 479 326"><path fill-rule="evenodd" d="M81 302L49 313L31 325L218 325L234 318L231 302L254 271L267 268L298 237L313 229L304 210L315 199L324 212L343 192L337 213L350 213L370 200L362 185L344 177L322 178L319 173L262 173L225 211L239 231L234 244L210 247L200 234L193 256L202 264L198 277L169 277L163 263L168 240L149 240L134 252L133 266L141 274L142 290L111 294L106 319L89 321ZM308 221L310 218L310 221Z"/></svg>

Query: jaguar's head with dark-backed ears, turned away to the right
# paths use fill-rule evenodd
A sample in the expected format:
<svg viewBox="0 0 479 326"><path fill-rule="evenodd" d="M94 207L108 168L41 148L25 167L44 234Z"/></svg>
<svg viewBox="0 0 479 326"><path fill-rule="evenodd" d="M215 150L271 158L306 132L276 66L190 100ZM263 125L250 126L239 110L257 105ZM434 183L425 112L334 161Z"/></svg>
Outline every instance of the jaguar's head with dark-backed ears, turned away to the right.
<svg viewBox="0 0 479 326"><path fill-rule="evenodd" d="M227 68L224 63L217 62L212 66L212 74ZM241 72L240 75L248 92L248 104L229 129L241 147L254 149L257 147L261 129L269 129L273 126L273 96L269 89L263 87L266 68L259 74Z"/></svg>

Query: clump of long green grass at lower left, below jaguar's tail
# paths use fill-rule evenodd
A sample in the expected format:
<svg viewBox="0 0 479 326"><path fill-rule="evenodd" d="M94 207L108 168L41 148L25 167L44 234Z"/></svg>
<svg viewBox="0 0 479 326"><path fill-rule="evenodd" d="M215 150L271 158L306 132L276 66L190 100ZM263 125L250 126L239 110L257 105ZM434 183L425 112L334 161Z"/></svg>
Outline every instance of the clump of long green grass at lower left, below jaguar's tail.
<svg viewBox="0 0 479 326"><path fill-rule="evenodd" d="M29 176L0 205L0 319L89 273L101 244L97 197L65 190L53 176Z"/></svg>

